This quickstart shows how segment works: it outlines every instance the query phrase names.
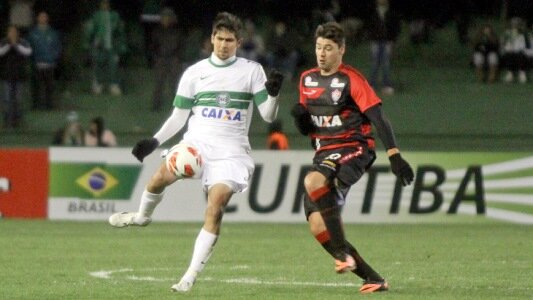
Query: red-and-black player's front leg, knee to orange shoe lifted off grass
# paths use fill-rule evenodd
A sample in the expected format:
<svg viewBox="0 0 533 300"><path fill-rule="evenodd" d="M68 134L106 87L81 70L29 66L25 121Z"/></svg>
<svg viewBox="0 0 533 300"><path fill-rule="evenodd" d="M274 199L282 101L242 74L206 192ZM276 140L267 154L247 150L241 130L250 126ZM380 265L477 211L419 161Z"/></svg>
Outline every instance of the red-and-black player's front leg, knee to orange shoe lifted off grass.
<svg viewBox="0 0 533 300"><path fill-rule="evenodd" d="M354 259L346 253L344 245L344 229L341 220L341 208L337 204L335 189L326 176L312 171L305 176L304 185L307 196L316 204L321 219L327 228L331 243L331 254L335 258L335 270L339 273L355 268Z"/></svg>

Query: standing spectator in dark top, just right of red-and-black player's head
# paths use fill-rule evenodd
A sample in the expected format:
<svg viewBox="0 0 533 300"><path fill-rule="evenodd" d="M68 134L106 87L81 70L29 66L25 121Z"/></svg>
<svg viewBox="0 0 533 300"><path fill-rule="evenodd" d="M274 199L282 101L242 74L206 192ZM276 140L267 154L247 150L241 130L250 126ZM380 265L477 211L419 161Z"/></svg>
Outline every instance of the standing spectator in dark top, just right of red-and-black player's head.
<svg viewBox="0 0 533 300"><path fill-rule="evenodd" d="M368 33L372 52L370 84L377 90L381 71L382 92L391 95L394 88L390 78L390 60L394 42L400 34L400 18L390 9L388 0L376 0L375 9L369 19Z"/></svg>

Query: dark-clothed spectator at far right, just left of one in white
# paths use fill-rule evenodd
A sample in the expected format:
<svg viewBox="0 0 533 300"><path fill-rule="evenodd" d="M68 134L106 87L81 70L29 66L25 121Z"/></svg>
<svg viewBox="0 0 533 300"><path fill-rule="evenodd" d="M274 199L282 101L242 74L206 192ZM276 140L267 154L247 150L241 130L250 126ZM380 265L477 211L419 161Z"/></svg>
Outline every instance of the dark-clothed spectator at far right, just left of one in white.
<svg viewBox="0 0 533 300"><path fill-rule="evenodd" d="M496 80L499 64L500 42L491 25L482 26L474 41L472 62L481 82L493 83Z"/></svg>

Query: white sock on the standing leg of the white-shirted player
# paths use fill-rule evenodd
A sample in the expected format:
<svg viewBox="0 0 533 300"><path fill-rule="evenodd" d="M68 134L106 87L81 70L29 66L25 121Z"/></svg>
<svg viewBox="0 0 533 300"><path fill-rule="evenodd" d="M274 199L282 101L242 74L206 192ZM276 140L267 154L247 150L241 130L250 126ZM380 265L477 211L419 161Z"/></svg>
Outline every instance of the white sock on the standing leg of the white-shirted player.
<svg viewBox="0 0 533 300"><path fill-rule="evenodd" d="M204 269L205 264L211 257L213 246L215 246L217 239L218 235L203 228L200 230L200 233L196 237L196 242L194 243L191 264L183 276L183 280L194 281L196 279L196 275Z"/></svg>

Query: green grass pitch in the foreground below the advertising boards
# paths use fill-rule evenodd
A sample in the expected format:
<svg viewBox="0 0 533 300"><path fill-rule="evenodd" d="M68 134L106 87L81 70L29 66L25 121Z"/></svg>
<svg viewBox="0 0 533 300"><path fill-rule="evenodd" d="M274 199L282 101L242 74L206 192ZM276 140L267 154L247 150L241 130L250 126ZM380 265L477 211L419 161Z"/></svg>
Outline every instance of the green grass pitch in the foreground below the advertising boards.
<svg viewBox="0 0 533 300"><path fill-rule="evenodd" d="M227 223L186 294L199 223L0 220L0 299L531 299L533 231L483 218L349 224L347 237L391 286L360 295L305 224Z"/></svg>

